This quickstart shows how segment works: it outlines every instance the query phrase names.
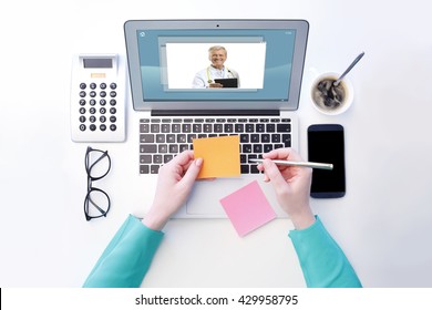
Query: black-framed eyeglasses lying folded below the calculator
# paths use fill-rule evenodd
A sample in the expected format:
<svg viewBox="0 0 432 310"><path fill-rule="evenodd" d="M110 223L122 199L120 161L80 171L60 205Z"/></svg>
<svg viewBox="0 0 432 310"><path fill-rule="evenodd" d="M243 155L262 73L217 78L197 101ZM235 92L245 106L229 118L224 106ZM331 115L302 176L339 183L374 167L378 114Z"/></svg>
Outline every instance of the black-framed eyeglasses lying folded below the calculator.
<svg viewBox="0 0 432 310"><path fill-rule="evenodd" d="M110 210L110 197L101 188L93 187L93 182L107 175L111 169L111 158L107 151L88 147L85 153L85 172L88 173L88 195L84 200L85 219L106 217Z"/></svg>

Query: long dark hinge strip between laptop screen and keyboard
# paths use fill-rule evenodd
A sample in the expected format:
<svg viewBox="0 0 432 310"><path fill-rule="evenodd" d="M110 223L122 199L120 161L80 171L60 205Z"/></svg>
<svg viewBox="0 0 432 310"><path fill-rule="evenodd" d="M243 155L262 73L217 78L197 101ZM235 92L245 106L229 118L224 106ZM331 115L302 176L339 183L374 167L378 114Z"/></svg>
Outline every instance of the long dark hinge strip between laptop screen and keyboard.
<svg viewBox="0 0 432 310"><path fill-rule="evenodd" d="M152 110L152 116L279 116L279 110Z"/></svg>

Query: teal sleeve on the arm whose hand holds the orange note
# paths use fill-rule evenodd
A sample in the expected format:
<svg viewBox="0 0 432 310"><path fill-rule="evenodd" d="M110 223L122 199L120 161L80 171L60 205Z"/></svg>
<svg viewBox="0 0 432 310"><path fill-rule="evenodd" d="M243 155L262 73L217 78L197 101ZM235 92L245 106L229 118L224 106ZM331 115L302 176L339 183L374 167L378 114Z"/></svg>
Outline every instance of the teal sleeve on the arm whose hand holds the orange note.
<svg viewBox="0 0 432 310"><path fill-rule="evenodd" d="M103 251L83 287L140 287L163 235L130 215Z"/></svg>

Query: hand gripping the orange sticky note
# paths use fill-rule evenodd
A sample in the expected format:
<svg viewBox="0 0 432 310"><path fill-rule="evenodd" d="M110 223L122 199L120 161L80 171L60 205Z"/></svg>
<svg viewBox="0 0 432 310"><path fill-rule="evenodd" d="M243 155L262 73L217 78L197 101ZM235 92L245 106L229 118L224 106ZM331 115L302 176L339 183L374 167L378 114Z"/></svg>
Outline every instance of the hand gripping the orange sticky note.
<svg viewBox="0 0 432 310"><path fill-rule="evenodd" d="M194 159L194 152L185 151L160 168L153 205L143 219L145 226L154 230L165 226L186 203L202 166L203 158Z"/></svg>

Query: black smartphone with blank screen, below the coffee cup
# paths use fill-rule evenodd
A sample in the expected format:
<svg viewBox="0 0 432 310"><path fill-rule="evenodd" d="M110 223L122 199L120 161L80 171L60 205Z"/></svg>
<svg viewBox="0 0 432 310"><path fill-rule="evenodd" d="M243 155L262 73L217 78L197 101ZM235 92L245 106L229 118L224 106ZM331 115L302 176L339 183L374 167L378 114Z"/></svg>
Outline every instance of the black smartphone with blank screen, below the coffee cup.
<svg viewBox="0 0 432 310"><path fill-rule="evenodd" d="M308 127L309 162L333 164L332 170L313 169L310 196L339 198L346 194L344 135L339 124L316 124Z"/></svg>

